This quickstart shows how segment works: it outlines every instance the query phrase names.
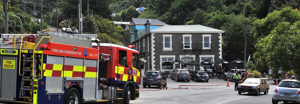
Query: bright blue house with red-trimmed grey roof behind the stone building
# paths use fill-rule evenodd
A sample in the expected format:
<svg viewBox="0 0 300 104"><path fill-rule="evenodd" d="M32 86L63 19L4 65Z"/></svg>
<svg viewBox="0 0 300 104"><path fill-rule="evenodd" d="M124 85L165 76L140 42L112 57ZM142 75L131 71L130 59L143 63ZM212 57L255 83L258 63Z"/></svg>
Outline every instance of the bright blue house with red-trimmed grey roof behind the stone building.
<svg viewBox="0 0 300 104"><path fill-rule="evenodd" d="M147 20L149 21L149 23L151 23L149 25L150 30L167 25L166 23L157 19L132 18L130 24L128 25L131 33L131 41L137 39L137 37L134 36L134 31L137 31L139 35L143 35L146 33L144 24Z"/></svg>

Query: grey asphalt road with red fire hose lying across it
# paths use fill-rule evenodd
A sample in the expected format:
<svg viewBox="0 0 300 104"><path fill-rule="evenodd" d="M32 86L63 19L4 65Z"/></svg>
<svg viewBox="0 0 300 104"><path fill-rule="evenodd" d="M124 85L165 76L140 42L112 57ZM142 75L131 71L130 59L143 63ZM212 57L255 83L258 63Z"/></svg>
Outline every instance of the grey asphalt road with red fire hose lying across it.
<svg viewBox="0 0 300 104"><path fill-rule="evenodd" d="M266 80L270 84L268 94L242 93L234 91L234 85L226 87L227 81L223 79L210 79L209 82L179 81L167 79L168 89L159 90L159 87L151 86L143 88L140 85L140 98L130 101L131 104L272 104L271 99L276 87L272 80ZM221 85L223 84L223 85ZM229 80L229 84L234 84ZM182 86L188 89L178 88L178 85L219 85L219 86ZM279 104L284 104L279 102Z"/></svg>

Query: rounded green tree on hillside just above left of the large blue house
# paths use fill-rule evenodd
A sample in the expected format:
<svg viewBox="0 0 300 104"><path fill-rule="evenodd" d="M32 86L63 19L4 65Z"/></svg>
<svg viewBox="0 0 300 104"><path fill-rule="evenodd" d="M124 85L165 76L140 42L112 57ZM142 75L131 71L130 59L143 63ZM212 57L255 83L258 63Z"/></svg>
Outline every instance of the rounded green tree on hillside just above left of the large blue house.
<svg viewBox="0 0 300 104"><path fill-rule="evenodd" d="M133 6L129 6L126 10L121 12L123 21L131 21L132 18L137 18L140 13Z"/></svg>

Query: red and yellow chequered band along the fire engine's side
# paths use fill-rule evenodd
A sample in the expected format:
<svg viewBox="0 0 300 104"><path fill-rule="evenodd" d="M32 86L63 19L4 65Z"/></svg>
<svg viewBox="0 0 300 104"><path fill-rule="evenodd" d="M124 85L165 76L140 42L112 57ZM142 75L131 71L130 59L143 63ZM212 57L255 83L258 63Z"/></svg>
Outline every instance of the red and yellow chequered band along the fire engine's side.
<svg viewBox="0 0 300 104"><path fill-rule="evenodd" d="M64 71L63 71L64 67ZM48 77L97 77L97 67L83 67L62 64L43 64L43 76Z"/></svg>

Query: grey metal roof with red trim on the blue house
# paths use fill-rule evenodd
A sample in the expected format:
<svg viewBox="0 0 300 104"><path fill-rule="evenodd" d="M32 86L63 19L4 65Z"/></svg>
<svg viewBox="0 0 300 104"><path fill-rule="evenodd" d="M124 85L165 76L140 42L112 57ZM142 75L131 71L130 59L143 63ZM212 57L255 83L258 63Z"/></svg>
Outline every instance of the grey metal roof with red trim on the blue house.
<svg viewBox="0 0 300 104"><path fill-rule="evenodd" d="M157 19L132 18L135 24L145 24L149 20L150 25L168 25Z"/></svg>

